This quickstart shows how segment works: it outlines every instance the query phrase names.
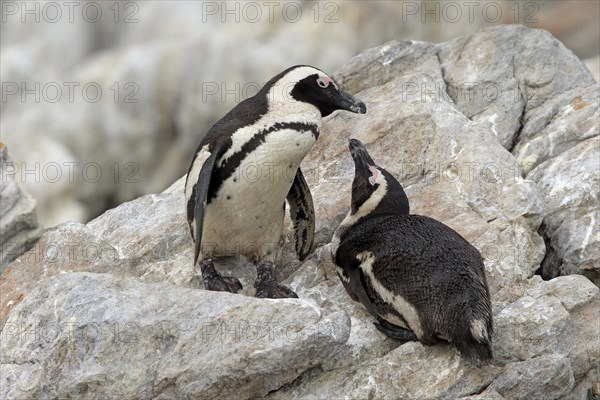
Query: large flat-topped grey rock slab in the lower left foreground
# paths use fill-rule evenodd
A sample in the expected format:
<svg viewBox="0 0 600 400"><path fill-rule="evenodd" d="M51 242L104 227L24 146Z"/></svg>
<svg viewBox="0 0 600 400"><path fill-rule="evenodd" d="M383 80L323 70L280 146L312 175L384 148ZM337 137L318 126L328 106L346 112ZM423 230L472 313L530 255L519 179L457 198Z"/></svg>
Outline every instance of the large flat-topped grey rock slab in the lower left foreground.
<svg viewBox="0 0 600 400"><path fill-rule="evenodd" d="M306 300L68 273L7 320L0 397L254 398L335 354L349 330Z"/></svg>

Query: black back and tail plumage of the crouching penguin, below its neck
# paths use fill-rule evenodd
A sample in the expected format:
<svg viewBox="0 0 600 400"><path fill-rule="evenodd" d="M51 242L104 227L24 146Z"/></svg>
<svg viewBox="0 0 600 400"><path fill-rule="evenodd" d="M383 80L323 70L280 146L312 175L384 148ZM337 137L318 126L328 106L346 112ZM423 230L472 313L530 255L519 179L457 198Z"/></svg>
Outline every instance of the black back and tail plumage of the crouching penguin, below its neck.
<svg viewBox="0 0 600 400"><path fill-rule="evenodd" d="M422 215L367 216L341 235L336 263L354 260L363 251L375 256L372 270L378 282L417 310L422 342L444 336L473 361L492 358L491 343L474 343L470 334L474 320L485 323L484 341L493 332L483 259L456 231ZM365 286L380 314L389 312L368 279Z"/></svg>

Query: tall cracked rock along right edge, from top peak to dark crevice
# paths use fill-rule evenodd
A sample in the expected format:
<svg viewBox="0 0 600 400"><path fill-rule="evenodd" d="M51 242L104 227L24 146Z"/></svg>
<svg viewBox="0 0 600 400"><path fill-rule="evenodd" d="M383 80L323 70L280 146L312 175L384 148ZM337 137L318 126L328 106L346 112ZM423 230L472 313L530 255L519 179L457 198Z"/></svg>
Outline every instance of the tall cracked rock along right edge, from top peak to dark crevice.
<svg viewBox="0 0 600 400"><path fill-rule="evenodd" d="M524 27L487 29L438 48L458 109L488 125L515 154L515 169L542 188L542 233L551 249L544 277L580 272L600 282L600 152L595 141L578 147L599 132L592 75L548 32Z"/></svg>

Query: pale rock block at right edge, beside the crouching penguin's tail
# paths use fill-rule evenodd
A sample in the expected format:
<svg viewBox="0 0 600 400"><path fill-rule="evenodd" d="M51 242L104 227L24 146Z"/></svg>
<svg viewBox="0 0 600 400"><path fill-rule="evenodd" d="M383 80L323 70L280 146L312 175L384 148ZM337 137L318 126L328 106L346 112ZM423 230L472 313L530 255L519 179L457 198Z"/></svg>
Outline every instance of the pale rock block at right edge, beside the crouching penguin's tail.
<svg viewBox="0 0 600 400"><path fill-rule="evenodd" d="M600 361L600 290L578 275L542 281L494 315L495 355L523 361L563 354L576 379Z"/></svg>

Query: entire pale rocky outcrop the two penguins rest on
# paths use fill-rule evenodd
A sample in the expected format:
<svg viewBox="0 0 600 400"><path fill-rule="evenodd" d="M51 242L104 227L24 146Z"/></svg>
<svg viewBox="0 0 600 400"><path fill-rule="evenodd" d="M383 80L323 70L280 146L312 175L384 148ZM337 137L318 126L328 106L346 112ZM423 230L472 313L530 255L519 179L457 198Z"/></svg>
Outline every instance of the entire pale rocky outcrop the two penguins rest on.
<svg viewBox="0 0 600 400"><path fill-rule="evenodd" d="M278 269L299 299L202 290L179 180L49 229L9 265L0 398L586 399L600 379L600 292L586 277L600 268L600 149L583 64L547 32L504 26L392 41L336 78L368 113L332 115L303 162L317 246L298 262L288 229ZM481 251L496 365L400 345L345 292L329 241L350 204L351 137L413 213ZM250 265L217 263L246 288Z"/></svg>

